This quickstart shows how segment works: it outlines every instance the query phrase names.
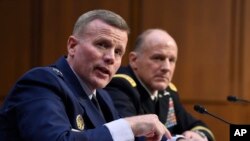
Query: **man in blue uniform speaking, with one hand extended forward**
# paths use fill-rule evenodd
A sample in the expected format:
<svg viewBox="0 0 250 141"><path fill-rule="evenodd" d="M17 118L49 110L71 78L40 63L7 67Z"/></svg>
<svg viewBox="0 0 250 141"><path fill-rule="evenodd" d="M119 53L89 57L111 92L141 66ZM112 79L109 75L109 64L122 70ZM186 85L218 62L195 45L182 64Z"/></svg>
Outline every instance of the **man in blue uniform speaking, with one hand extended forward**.
<svg viewBox="0 0 250 141"><path fill-rule="evenodd" d="M111 11L80 16L68 38L68 55L25 73L6 97L0 109L0 140L171 138L154 114L120 118L109 95L100 89L120 67L128 33L127 23Z"/></svg>

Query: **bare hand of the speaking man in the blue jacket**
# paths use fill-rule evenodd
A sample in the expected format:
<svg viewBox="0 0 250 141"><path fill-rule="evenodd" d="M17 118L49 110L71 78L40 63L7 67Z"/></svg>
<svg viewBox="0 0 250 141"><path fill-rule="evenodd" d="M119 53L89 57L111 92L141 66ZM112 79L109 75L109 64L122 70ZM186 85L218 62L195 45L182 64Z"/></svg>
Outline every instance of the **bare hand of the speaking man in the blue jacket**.
<svg viewBox="0 0 250 141"><path fill-rule="evenodd" d="M170 139L172 136L168 129L154 114L124 118L130 124L136 137L145 136L147 141L160 141L162 136Z"/></svg>

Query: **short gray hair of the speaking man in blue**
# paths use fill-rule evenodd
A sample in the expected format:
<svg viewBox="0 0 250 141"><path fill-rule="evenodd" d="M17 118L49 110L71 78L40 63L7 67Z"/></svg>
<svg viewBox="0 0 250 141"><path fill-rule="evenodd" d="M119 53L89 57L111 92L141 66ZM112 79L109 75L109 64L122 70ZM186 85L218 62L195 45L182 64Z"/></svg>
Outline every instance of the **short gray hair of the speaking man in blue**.
<svg viewBox="0 0 250 141"><path fill-rule="evenodd" d="M82 14L75 23L73 35L80 35L84 32L85 27L93 20L99 19L113 27L130 32L126 21L118 14L104 9L92 10Z"/></svg>

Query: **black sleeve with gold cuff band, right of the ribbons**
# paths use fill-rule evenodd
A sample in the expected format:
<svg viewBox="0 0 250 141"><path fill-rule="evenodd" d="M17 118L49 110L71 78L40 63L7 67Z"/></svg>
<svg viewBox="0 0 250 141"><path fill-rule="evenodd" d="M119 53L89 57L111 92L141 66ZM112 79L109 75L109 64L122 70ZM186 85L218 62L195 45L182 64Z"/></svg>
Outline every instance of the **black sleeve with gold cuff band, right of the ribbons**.
<svg viewBox="0 0 250 141"><path fill-rule="evenodd" d="M193 117L183 107L182 103L180 102L180 98L178 96L177 91L173 91L173 90L169 90L169 91L174 101L174 106L176 109L176 117L180 124L179 126L182 132L186 130L198 131L204 134L208 138L209 141L214 141L215 140L214 135L211 132L211 130L207 127L207 125L203 121Z"/></svg>

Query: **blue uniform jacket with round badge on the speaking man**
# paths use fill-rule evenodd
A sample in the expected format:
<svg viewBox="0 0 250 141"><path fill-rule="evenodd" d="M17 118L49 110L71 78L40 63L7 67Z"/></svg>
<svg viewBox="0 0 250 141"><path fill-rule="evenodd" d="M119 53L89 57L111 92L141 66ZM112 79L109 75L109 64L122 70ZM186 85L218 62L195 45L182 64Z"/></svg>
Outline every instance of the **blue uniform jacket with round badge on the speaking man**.
<svg viewBox="0 0 250 141"><path fill-rule="evenodd" d="M0 109L0 140L111 141L103 124L119 116L104 90L96 95L105 119L64 57L52 66L34 68L17 81Z"/></svg>

